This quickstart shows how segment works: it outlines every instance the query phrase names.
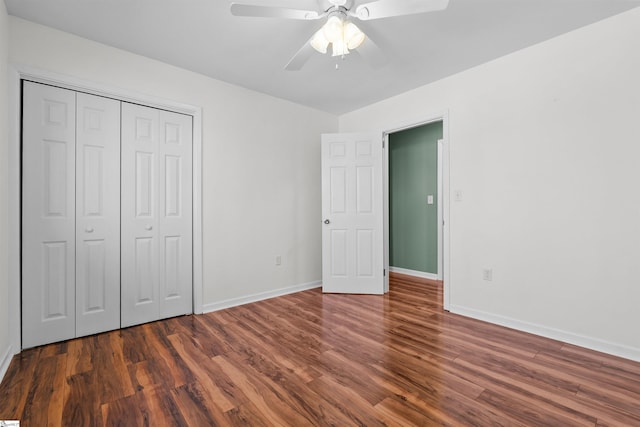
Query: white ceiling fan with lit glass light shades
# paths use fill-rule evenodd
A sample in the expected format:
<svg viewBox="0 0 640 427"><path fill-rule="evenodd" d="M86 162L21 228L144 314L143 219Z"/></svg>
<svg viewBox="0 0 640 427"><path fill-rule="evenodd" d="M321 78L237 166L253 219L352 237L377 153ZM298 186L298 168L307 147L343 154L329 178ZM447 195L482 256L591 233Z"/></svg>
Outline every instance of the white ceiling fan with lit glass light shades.
<svg viewBox="0 0 640 427"><path fill-rule="evenodd" d="M291 58L285 69L302 68L314 52L327 53L331 45L332 56L344 57L350 50L358 49L360 55L373 67L386 62L378 46L352 21L369 21L394 16L413 15L446 9L449 0L374 0L356 4L356 0L318 0L318 10L292 9L278 6L262 6L231 3L234 16L284 18L315 21L327 18L309 40Z"/></svg>

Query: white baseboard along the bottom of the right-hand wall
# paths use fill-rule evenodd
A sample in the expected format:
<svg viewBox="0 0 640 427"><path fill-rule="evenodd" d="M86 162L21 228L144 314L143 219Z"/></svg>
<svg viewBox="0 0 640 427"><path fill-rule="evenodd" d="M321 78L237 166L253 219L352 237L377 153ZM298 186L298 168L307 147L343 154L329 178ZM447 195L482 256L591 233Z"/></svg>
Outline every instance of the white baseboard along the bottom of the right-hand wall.
<svg viewBox="0 0 640 427"><path fill-rule="evenodd" d="M573 332L549 328L547 326L538 325L536 323L523 322L521 320L512 319L510 317L487 313L484 311L462 307L454 304L451 305L450 312L460 314L462 316L472 317L478 320L483 320L485 322L506 326L507 328L517 329L519 331L529 332L531 334L562 341L567 344L574 344L580 347L588 348L590 350L600 351L602 353L607 353L613 356L619 356L625 359L640 362L640 348L616 344L593 337L574 334Z"/></svg>

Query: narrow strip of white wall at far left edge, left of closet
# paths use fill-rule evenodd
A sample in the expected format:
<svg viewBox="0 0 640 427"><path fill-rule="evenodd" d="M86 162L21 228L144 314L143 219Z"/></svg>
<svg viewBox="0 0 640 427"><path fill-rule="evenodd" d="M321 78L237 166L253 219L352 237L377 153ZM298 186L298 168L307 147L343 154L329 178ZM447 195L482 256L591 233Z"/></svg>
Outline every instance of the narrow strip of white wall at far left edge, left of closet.
<svg viewBox="0 0 640 427"><path fill-rule="evenodd" d="M8 203L8 94L7 94L7 56L8 46L7 10L4 1L0 1L0 378L4 375L12 351L9 333L9 276L7 234Z"/></svg>

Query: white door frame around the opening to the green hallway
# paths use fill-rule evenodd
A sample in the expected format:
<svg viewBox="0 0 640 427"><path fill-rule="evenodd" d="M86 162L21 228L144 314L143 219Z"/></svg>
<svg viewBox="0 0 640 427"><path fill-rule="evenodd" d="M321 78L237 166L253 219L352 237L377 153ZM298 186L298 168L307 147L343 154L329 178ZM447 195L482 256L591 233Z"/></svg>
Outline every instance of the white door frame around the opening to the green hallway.
<svg viewBox="0 0 640 427"><path fill-rule="evenodd" d="M382 139L384 142L383 150L383 203L384 203L384 265L386 271L389 271L389 135L415 127L428 125L430 123L442 122L442 152L438 150L438 177L441 182L438 184L439 193L441 193L441 206L438 211L442 214L441 227L442 243L438 247L439 266L442 265L442 290L443 290L443 308L447 311L450 309L451 295L451 268L450 268L450 226L449 226L449 112L448 110L434 112L423 117L405 120L389 126L382 127ZM440 144L438 144L440 145ZM389 274L385 276L385 292L389 291Z"/></svg>

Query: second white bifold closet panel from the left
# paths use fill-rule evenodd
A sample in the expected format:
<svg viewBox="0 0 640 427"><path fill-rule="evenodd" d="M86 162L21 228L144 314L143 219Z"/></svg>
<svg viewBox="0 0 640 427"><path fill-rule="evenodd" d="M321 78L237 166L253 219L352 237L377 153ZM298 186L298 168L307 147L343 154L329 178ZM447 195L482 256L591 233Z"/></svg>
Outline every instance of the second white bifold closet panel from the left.
<svg viewBox="0 0 640 427"><path fill-rule="evenodd" d="M120 327L120 102L77 94L76 336Z"/></svg>

